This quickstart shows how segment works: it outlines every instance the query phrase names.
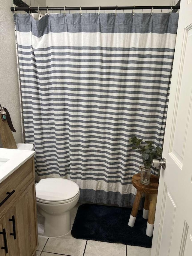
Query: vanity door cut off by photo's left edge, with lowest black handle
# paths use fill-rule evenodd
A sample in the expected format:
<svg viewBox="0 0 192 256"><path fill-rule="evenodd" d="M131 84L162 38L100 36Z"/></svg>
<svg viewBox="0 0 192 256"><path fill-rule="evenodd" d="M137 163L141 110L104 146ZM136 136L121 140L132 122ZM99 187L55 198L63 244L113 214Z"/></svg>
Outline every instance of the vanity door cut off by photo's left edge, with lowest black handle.
<svg viewBox="0 0 192 256"><path fill-rule="evenodd" d="M5 217L0 219L0 256L9 256Z"/></svg>

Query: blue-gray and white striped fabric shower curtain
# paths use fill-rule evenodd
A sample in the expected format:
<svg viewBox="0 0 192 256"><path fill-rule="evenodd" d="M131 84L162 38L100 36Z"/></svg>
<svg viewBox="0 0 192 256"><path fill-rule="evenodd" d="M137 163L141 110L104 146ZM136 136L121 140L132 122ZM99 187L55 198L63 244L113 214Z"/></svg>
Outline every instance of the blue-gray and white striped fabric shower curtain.
<svg viewBox="0 0 192 256"><path fill-rule="evenodd" d="M132 206L129 138L163 144L179 14L35 15L14 20L36 172L76 182L81 202Z"/></svg>

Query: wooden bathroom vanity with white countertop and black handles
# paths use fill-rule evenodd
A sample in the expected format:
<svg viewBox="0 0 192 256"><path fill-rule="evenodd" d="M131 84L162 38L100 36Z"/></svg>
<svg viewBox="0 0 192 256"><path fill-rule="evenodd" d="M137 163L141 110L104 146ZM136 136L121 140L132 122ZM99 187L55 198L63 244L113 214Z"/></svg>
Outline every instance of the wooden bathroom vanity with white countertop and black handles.
<svg viewBox="0 0 192 256"><path fill-rule="evenodd" d="M0 256L36 255L34 154L0 149Z"/></svg>

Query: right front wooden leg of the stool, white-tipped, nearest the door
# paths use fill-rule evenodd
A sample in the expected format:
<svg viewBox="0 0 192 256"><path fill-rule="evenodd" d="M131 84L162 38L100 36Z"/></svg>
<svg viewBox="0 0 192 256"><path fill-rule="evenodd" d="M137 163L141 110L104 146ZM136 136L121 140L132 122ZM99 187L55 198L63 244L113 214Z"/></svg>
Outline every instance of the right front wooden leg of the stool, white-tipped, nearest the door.
<svg viewBox="0 0 192 256"><path fill-rule="evenodd" d="M147 229L146 229L146 235L147 236L152 236L153 235L156 203L157 203L157 194L151 194L150 204L149 204L149 217L148 217Z"/></svg>

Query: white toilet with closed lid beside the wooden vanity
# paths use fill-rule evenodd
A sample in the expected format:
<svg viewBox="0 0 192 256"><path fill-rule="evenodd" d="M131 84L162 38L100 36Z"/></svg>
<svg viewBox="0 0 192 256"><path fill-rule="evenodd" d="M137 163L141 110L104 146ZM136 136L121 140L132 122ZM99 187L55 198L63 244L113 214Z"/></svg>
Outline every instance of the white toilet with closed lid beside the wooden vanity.
<svg viewBox="0 0 192 256"><path fill-rule="evenodd" d="M32 144L22 145L17 144L17 149L33 150ZM38 220L41 220L38 225L43 227L38 228L38 233L42 236L68 233L71 229L70 210L79 200L79 186L67 179L46 178L41 179L35 188Z"/></svg>

